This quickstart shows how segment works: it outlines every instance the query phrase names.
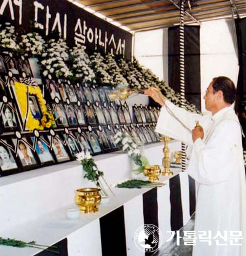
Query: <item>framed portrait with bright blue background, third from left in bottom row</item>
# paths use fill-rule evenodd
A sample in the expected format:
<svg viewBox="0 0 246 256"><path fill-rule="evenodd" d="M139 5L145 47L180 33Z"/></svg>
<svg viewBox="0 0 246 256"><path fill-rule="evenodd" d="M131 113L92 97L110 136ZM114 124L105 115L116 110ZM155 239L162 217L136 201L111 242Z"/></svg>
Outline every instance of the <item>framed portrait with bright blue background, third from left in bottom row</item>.
<svg viewBox="0 0 246 256"><path fill-rule="evenodd" d="M32 137L31 140L34 142L35 138ZM55 162L54 157L52 156L49 147L44 142L43 136L41 136L40 138L37 139L36 145L35 145L35 150L38 154L38 159L42 164Z"/></svg>

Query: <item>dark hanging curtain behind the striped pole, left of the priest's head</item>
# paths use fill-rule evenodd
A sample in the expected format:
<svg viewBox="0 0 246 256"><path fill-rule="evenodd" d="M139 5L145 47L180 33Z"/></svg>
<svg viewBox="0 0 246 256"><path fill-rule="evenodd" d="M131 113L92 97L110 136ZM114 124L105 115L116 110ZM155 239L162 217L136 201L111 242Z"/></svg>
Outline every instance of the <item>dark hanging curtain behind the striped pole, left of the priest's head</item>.
<svg viewBox="0 0 246 256"><path fill-rule="evenodd" d="M179 27L169 28L169 86L180 93ZM185 97L200 110L200 27L185 26Z"/></svg>

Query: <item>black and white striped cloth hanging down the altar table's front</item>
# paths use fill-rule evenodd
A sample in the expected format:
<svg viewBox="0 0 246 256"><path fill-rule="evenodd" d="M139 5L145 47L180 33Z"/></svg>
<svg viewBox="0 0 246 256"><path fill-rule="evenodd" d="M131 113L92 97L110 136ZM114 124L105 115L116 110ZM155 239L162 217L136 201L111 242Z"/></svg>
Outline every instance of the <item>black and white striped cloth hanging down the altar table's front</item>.
<svg viewBox="0 0 246 256"><path fill-rule="evenodd" d="M162 232L162 244L170 238L167 231L185 225L196 208L196 184L186 173L165 181L129 200L121 207L69 234L55 244L60 256L144 256L135 246L135 231L144 224L156 225ZM88 216L88 215L87 215ZM55 256L41 252L36 256Z"/></svg>

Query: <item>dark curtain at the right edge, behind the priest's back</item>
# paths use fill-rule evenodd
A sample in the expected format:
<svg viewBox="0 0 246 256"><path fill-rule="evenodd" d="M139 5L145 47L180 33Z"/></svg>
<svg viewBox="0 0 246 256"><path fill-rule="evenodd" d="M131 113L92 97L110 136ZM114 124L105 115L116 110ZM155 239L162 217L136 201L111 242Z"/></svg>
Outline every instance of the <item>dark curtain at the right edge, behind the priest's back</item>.
<svg viewBox="0 0 246 256"><path fill-rule="evenodd" d="M237 46L239 52L239 77L237 81L236 111L246 134L246 19L236 20ZM246 138L244 150L246 149Z"/></svg>

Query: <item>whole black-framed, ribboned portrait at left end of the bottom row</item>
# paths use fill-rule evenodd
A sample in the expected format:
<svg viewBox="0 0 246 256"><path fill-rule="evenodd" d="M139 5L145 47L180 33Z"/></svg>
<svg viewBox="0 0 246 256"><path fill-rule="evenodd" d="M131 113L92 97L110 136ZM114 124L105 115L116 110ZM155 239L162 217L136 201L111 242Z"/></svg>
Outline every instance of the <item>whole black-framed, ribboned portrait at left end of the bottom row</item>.
<svg viewBox="0 0 246 256"><path fill-rule="evenodd" d="M8 144L5 139L2 140ZM18 171L18 163L12 152L5 144L0 142L0 176L7 176Z"/></svg>

